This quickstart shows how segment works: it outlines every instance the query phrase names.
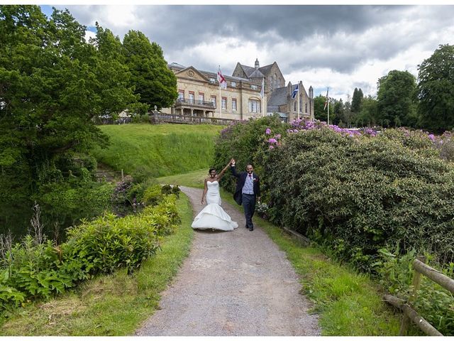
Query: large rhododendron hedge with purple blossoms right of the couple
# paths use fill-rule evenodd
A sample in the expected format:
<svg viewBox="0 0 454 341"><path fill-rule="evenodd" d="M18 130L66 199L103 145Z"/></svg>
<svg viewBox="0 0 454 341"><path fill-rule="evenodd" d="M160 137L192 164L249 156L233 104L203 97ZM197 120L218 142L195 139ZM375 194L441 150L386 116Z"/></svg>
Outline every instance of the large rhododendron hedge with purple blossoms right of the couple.
<svg viewBox="0 0 454 341"><path fill-rule="evenodd" d="M433 136L405 129L377 135L300 120L277 140L265 126L260 138L262 123L237 124L221 135L216 160L253 156L272 222L365 271L387 243L453 258L454 167L441 160ZM225 186L232 191L232 185Z"/></svg>

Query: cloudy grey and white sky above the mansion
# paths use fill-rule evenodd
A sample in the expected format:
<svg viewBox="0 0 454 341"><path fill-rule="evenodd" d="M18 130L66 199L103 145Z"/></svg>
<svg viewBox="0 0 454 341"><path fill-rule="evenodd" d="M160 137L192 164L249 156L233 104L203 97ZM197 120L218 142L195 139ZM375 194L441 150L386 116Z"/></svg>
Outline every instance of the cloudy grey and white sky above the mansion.
<svg viewBox="0 0 454 341"><path fill-rule="evenodd" d="M167 63L231 75L236 63L277 62L285 81L346 99L355 87L377 94L390 70L418 65L438 45L454 45L453 5L52 5L94 31L96 21L123 40L145 33ZM50 14L52 6L42 6Z"/></svg>

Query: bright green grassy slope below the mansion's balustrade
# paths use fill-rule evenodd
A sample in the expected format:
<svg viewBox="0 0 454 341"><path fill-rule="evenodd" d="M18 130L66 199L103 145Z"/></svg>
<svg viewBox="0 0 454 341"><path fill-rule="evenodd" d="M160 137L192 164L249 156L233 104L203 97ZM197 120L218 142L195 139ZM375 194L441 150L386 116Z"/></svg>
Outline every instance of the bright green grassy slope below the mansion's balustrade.
<svg viewBox="0 0 454 341"><path fill-rule="evenodd" d="M111 139L94 156L114 168L133 173L145 168L153 177L208 169L214 155L214 139L221 126L187 124L121 124L100 126Z"/></svg>

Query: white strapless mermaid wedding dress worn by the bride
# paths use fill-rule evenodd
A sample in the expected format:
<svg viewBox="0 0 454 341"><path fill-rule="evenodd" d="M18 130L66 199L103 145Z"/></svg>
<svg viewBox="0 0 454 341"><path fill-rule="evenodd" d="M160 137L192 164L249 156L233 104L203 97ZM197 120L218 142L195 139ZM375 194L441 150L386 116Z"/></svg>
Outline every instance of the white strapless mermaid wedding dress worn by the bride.
<svg viewBox="0 0 454 341"><path fill-rule="evenodd" d="M221 195L219 195L218 181L207 181L206 206L199 212L192 222L193 229L221 229L233 231L238 223L233 222L231 217L221 207Z"/></svg>

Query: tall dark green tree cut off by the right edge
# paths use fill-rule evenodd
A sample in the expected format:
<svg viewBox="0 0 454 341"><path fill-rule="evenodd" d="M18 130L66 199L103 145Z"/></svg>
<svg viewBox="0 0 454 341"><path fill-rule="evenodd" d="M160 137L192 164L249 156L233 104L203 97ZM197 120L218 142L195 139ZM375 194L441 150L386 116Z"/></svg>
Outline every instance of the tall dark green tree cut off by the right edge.
<svg viewBox="0 0 454 341"><path fill-rule="evenodd" d="M416 87L421 126L441 132L454 128L454 46L440 45L419 65Z"/></svg>

